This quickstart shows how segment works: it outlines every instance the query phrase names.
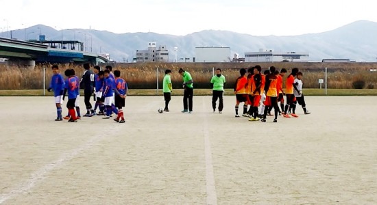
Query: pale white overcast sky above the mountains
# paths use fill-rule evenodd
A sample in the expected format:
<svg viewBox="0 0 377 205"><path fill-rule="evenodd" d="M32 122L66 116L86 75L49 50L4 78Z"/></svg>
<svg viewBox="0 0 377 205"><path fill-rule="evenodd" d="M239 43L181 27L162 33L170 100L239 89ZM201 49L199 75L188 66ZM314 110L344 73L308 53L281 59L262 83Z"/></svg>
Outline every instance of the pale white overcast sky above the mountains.
<svg viewBox="0 0 377 205"><path fill-rule="evenodd" d="M330 31L377 22L374 0L0 0L0 31L43 24L60 29L186 35L206 29L254 36Z"/></svg>

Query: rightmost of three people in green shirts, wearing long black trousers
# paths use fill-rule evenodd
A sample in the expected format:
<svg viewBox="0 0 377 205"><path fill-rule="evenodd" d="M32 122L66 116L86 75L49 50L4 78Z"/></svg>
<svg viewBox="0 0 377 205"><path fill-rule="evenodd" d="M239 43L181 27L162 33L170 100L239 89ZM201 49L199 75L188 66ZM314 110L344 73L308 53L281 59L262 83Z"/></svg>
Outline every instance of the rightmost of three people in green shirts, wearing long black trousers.
<svg viewBox="0 0 377 205"><path fill-rule="evenodd" d="M219 113L223 111L223 93L224 84L226 83L225 76L221 74L221 69L216 69L216 75L210 79L210 84L212 85L212 108L213 112L216 111L216 101L219 98Z"/></svg>

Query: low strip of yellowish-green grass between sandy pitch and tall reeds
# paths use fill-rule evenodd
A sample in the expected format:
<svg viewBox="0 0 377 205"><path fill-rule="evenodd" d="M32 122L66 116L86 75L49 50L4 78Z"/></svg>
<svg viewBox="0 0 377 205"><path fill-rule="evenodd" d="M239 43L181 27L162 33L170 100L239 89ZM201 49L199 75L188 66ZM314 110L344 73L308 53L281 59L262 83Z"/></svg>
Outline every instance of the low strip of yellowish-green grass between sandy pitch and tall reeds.
<svg viewBox="0 0 377 205"><path fill-rule="evenodd" d="M84 93L82 93L84 94ZM206 96L211 95L210 89L195 89L194 95ZM43 90L0 90L0 96L43 96ZM53 92L47 92L47 96L52 96ZM156 96L156 90L130 90L130 96ZM158 95L162 96L162 90L158 91ZM182 96L183 89L173 90L172 95ZM226 89L224 95L234 95L231 89ZM306 96L324 96L324 89L305 89ZM377 89L328 89L328 96L377 96Z"/></svg>

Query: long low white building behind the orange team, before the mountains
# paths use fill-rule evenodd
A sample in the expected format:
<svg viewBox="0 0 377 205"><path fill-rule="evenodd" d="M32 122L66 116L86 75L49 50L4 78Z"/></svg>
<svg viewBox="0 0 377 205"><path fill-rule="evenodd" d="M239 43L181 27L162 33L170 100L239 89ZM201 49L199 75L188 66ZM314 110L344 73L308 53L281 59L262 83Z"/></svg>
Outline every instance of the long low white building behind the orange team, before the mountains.
<svg viewBox="0 0 377 205"><path fill-rule="evenodd" d="M277 51L263 51L245 53L245 62L306 62L309 60L309 53L307 52L277 52Z"/></svg>

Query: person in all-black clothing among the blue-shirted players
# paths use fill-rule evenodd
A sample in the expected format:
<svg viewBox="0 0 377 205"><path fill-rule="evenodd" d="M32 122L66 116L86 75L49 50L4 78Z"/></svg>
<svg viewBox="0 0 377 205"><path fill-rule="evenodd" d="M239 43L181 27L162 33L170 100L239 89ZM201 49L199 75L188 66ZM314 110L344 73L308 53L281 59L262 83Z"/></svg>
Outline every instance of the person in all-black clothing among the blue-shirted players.
<svg viewBox="0 0 377 205"><path fill-rule="evenodd" d="M80 81L80 87L84 86L84 102L86 106L86 114L84 117L91 117L95 115L95 111L92 108L92 104L90 104L90 97L92 96L94 92L94 73L92 70L90 70L89 64L84 64L84 74L82 74L82 78Z"/></svg>

